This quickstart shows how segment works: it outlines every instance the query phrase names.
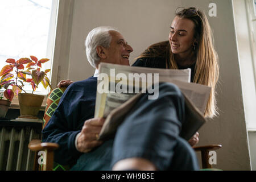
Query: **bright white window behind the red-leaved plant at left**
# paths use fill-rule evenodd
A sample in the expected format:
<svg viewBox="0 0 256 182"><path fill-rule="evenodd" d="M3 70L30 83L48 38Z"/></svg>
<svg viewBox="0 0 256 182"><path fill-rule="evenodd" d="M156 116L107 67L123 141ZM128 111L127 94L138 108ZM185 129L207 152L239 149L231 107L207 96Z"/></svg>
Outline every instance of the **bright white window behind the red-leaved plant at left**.
<svg viewBox="0 0 256 182"><path fill-rule="evenodd" d="M52 67L58 3L57 0L0 1L0 68L8 58L18 60L30 55L50 59L42 64L42 70ZM51 73L48 77L51 79ZM24 86L24 90L31 93L31 85ZM48 92L40 85L34 93Z"/></svg>

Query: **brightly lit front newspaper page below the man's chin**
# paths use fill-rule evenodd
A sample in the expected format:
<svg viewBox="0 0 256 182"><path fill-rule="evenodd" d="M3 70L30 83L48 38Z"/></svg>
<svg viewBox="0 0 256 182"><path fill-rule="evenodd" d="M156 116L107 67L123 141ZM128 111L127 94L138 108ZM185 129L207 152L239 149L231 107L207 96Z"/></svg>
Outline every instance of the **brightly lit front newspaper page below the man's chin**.
<svg viewBox="0 0 256 182"><path fill-rule="evenodd" d="M110 111L140 93L142 89L146 93L148 86L162 78L190 82L191 77L191 69L156 69L107 63L101 63L99 69L94 114L97 118L106 118ZM154 89L148 92L154 92ZM154 99L154 95L152 97Z"/></svg>

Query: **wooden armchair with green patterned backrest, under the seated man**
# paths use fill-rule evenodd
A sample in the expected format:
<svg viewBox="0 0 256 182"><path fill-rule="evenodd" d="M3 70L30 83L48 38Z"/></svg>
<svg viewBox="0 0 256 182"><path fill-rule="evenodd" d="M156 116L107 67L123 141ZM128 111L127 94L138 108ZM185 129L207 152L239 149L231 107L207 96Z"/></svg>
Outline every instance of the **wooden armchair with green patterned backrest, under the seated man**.
<svg viewBox="0 0 256 182"><path fill-rule="evenodd" d="M43 118L43 128L47 125L47 122L51 118L54 110L56 109L56 105L59 104L60 97L62 96L65 88L56 88L49 93L49 97L47 99L46 112ZM52 106L52 108L51 108ZM55 109L53 109L55 108ZM53 169L53 161L54 161L54 151L59 148L59 144L57 143L42 143L41 140L31 140L28 144L28 148L31 151L35 151L35 161L34 161L34 170L36 171L51 171ZM217 150L221 148L220 144L212 144L209 146L199 146L193 147L195 151L201 151L201 162L202 168L212 168L212 165L209 164L209 151ZM39 164L38 160L40 156L38 155L39 151L44 151L44 160L45 164Z"/></svg>

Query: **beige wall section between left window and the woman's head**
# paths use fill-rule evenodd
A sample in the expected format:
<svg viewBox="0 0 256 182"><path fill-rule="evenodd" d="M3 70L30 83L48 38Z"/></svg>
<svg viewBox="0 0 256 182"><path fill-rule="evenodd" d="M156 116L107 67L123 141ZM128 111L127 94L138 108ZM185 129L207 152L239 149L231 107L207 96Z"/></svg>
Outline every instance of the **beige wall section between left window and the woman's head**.
<svg viewBox="0 0 256 182"><path fill-rule="evenodd" d="M147 46L167 40L170 22L179 1L76 0L73 13L69 78L82 80L94 71L86 60L84 40L92 28L113 26L133 47L130 63ZM160 11L159 11L160 10ZM82 74L81 74L82 73Z"/></svg>

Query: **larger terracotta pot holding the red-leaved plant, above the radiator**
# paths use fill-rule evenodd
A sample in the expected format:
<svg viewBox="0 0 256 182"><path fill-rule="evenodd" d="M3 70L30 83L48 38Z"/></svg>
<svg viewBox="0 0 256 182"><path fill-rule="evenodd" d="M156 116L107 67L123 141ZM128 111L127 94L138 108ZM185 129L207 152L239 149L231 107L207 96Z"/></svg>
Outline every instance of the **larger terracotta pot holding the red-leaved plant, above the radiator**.
<svg viewBox="0 0 256 182"><path fill-rule="evenodd" d="M38 119L36 117L43 104L44 96L31 93L19 93L19 118Z"/></svg>

